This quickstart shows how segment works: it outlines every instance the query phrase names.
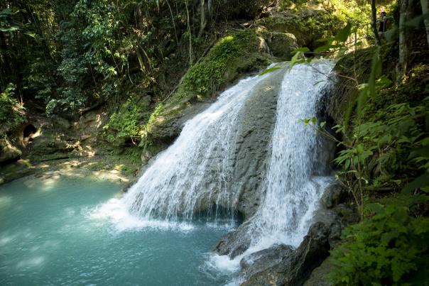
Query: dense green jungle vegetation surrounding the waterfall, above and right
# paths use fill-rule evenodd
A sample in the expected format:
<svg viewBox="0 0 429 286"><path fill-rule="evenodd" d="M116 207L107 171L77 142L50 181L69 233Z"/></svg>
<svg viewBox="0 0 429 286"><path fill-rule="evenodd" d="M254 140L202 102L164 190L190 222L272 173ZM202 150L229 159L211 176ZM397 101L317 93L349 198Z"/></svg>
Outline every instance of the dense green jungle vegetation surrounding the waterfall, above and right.
<svg viewBox="0 0 429 286"><path fill-rule="evenodd" d="M308 5L327 13L302 21ZM376 8L389 16L380 35ZM281 24L295 27L300 47L286 58L262 53ZM13 141L28 114L74 120L104 108L104 138L143 152L174 137L159 126L239 75L335 57L329 119L305 120L337 143L337 180L358 209L331 252L330 280L428 285L428 26L427 0L2 1L0 137Z"/></svg>

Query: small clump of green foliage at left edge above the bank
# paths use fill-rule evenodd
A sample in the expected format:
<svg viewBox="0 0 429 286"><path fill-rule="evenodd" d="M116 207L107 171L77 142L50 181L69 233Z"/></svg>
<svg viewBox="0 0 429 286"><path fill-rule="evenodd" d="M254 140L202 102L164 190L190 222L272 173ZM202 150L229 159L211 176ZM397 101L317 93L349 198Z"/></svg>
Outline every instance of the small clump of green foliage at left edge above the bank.
<svg viewBox="0 0 429 286"><path fill-rule="evenodd" d="M0 124L9 128L14 128L23 123L25 109L15 98L15 85L8 84L6 89L0 93Z"/></svg>

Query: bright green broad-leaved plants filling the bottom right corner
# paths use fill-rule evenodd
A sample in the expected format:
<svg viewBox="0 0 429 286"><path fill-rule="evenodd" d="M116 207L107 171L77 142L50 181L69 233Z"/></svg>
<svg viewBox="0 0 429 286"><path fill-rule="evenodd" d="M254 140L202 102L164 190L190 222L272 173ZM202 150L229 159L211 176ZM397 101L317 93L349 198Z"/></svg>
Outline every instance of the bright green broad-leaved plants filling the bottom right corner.
<svg viewBox="0 0 429 286"><path fill-rule="evenodd" d="M429 279L429 218L411 216L401 203L368 208L374 216L347 227L342 233L345 243L331 252L333 282L425 285Z"/></svg>

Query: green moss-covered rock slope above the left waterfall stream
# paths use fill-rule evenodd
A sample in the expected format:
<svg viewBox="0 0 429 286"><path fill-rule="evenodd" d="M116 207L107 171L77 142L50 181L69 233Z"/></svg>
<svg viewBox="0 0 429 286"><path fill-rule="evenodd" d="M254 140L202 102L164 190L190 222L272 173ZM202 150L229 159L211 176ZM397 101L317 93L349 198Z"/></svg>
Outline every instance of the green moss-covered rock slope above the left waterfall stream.
<svg viewBox="0 0 429 286"><path fill-rule="evenodd" d="M190 67L177 91L163 102L162 109L153 110L143 128L143 148L158 139L175 136L178 126L173 121L192 105L214 99L239 75L267 65L271 57L261 50L261 40L251 28L221 38L205 57Z"/></svg>

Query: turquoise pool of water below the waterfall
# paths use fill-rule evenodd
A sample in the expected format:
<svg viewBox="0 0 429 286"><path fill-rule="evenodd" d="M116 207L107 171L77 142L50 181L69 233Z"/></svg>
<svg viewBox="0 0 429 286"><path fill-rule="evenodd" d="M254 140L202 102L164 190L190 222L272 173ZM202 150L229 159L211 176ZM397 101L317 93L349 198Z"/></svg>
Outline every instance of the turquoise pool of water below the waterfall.
<svg viewBox="0 0 429 286"><path fill-rule="evenodd" d="M94 215L120 197L94 179L34 177L0 187L0 285L222 285L205 266L219 226L120 231Z"/></svg>

